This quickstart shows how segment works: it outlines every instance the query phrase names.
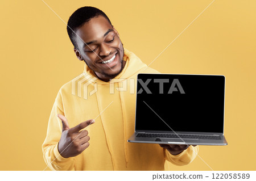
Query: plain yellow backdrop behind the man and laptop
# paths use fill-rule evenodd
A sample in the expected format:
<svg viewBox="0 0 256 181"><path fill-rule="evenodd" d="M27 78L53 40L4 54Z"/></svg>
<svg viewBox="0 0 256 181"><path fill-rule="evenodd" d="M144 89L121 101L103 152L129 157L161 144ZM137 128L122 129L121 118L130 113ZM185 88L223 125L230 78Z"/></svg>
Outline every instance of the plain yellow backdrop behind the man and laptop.
<svg viewBox="0 0 256 181"><path fill-rule="evenodd" d="M65 23L79 7L101 9L124 47L150 64L212 1L45 2ZM84 68L52 10L41 0L0 2L0 170L46 168L41 146L57 91ZM214 1L150 65L162 73L226 76L228 146L199 150L213 170L255 170L255 10L254 0ZM210 169L197 157L172 170Z"/></svg>

